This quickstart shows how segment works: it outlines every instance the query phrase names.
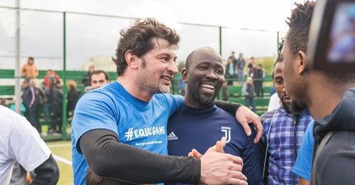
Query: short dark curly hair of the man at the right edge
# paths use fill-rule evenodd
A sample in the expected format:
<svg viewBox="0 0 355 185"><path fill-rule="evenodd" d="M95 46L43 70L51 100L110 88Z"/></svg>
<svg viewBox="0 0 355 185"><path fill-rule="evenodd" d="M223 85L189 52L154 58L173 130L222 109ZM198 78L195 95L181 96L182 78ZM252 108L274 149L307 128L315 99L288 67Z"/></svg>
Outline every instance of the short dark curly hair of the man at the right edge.
<svg viewBox="0 0 355 185"><path fill-rule="evenodd" d="M295 5L296 8L293 9L291 17L286 21L290 27L286 39L293 55L298 51L307 52L308 32L310 31L315 2L305 1L304 4L295 3Z"/></svg>

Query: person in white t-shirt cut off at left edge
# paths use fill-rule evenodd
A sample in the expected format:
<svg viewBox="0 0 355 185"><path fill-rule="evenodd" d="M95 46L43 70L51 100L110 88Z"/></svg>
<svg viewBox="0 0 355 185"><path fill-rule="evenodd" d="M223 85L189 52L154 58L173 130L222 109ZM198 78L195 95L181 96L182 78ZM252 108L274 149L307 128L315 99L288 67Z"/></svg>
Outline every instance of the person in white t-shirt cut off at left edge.
<svg viewBox="0 0 355 185"><path fill-rule="evenodd" d="M34 171L31 184L57 184L59 168L50 149L25 117L0 105L0 184L9 184L13 165Z"/></svg>

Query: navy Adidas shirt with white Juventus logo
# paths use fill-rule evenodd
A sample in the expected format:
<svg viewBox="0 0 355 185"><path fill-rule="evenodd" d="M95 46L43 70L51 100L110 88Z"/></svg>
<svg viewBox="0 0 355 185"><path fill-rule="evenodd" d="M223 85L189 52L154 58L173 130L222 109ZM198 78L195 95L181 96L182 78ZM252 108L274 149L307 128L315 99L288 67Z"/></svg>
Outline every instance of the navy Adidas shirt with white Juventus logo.
<svg viewBox="0 0 355 185"><path fill-rule="evenodd" d="M256 131L247 137L234 115L216 107L196 109L181 105L168 121L168 154L187 156L192 149L201 154L214 146L221 137L226 137L224 152L243 159L243 174L249 184L263 184L259 149L253 143Z"/></svg>

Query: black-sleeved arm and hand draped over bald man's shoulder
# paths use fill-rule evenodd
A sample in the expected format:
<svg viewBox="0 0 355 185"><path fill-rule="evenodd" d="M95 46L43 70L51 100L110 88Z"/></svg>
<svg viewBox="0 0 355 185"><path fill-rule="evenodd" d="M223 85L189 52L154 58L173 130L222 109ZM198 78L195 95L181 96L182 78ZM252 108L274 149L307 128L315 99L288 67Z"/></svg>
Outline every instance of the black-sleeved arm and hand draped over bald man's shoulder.
<svg viewBox="0 0 355 185"><path fill-rule="evenodd" d="M217 107L222 110L229 112L231 115L236 115L236 120L243 127L246 135L251 135L251 127L249 124L253 124L256 127L256 137L254 138L254 143L258 143L261 136L263 135L263 125L261 125L261 119L256 113L251 111L249 108L234 102L224 102L216 100Z"/></svg>

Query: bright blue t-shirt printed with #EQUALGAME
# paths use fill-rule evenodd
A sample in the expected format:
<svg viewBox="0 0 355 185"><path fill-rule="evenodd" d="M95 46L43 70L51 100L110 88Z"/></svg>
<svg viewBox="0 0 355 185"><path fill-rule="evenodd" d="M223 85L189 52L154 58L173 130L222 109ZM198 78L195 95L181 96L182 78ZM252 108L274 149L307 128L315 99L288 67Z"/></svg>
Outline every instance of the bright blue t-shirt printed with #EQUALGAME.
<svg viewBox="0 0 355 185"><path fill-rule="evenodd" d="M72 167L74 184L85 184L87 162L79 142L91 129L109 129L119 142L158 154L168 154L167 123L183 102L178 95L156 94L142 102L129 94L118 82L112 82L84 94L72 120Z"/></svg>

